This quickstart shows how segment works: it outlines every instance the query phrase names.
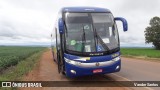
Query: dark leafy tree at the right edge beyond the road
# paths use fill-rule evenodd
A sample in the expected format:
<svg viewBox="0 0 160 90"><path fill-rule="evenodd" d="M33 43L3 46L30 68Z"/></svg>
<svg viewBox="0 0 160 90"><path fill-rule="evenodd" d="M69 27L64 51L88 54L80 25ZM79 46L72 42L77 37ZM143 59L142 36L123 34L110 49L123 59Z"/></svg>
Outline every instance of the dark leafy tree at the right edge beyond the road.
<svg viewBox="0 0 160 90"><path fill-rule="evenodd" d="M160 50L160 18L153 17L149 25L144 31L145 42L152 43L156 49Z"/></svg>

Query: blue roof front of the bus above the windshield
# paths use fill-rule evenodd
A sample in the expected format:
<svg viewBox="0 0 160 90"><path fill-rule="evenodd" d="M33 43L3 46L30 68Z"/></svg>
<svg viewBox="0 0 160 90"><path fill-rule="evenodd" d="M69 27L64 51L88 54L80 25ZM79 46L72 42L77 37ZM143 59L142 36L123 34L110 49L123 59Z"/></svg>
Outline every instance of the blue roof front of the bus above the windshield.
<svg viewBox="0 0 160 90"><path fill-rule="evenodd" d="M62 12L110 12L110 10L98 7L64 7Z"/></svg>

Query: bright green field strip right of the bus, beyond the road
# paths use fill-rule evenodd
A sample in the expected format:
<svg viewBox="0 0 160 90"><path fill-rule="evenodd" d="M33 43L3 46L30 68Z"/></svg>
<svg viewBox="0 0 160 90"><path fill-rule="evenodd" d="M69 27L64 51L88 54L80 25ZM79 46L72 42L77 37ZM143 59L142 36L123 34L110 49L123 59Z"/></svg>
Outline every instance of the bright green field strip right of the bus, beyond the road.
<svg viewBox="0 0 160 90"><path fill-rule="evenodd" d="M160 50L152 48L121 48L122 56L139 56L160 59Z"/></svg>

